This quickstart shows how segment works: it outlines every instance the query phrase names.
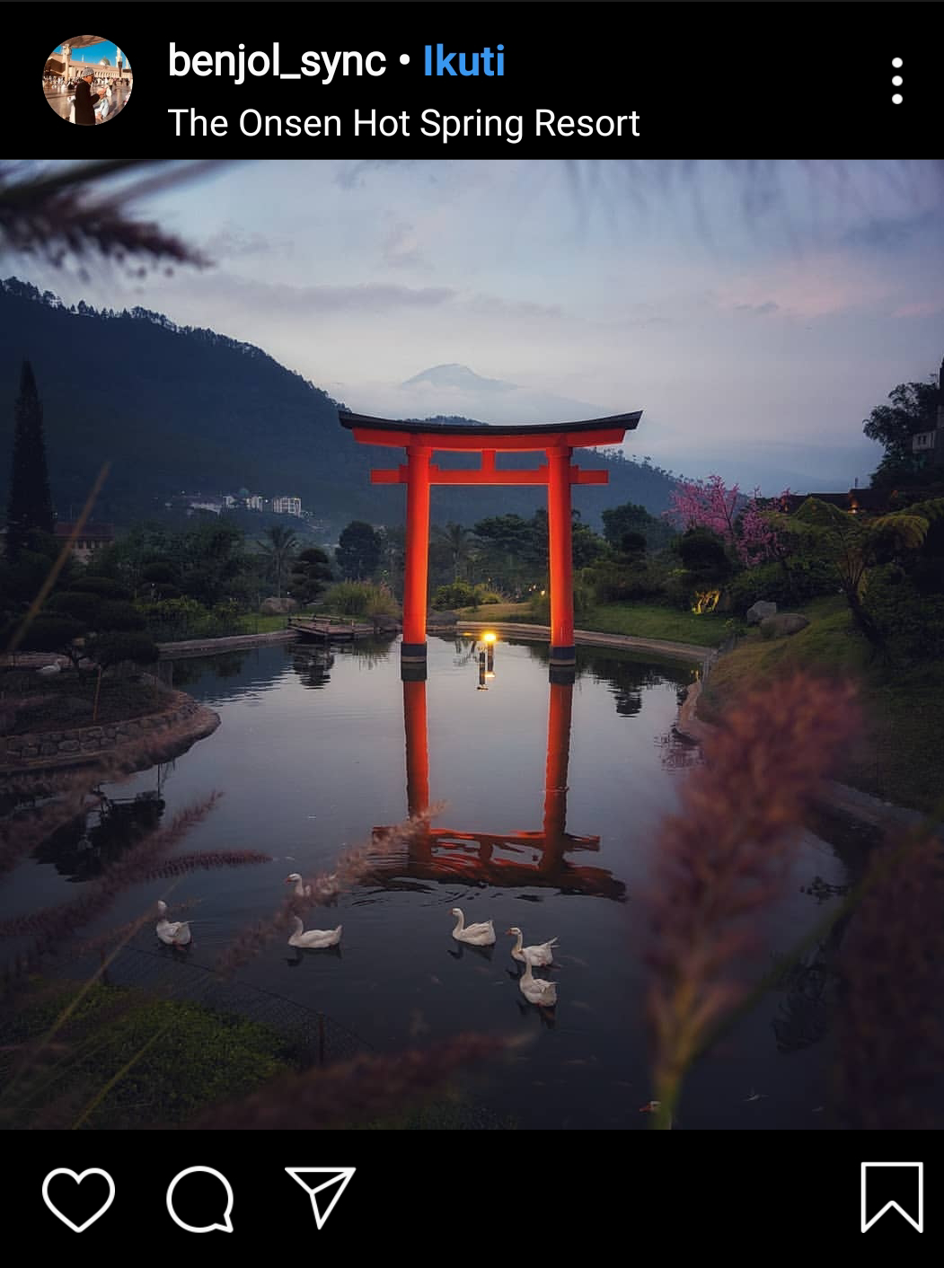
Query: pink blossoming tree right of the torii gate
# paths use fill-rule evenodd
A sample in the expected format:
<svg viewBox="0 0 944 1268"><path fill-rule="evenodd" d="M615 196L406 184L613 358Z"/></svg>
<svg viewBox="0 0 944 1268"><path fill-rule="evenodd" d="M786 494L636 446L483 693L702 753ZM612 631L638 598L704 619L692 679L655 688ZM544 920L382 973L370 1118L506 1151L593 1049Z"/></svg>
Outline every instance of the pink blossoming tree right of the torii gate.
<svg viewBox="0 0 944 1268"><path fill-rule="evenodd" d="M775 501L784 505L789 496L790 491L784 489ZM717 533L747 567L782 554L783 543L768 521L760 489L749 497L738 484L728 488L721 476L709 476L708 479L679 481L669 502L665 512L669 519L683 529Z"/></svg>

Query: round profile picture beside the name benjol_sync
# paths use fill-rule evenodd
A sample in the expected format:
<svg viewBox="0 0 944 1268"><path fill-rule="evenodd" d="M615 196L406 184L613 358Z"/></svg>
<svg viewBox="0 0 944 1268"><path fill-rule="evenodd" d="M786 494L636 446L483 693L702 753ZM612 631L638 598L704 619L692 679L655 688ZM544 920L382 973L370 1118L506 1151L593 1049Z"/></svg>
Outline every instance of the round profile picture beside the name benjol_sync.
<svg viewBox="0 0 944 1268"><path fill-rule="evenodd" d="M94 128L122 113L134 77L127 55L102 36L74 36L46 58L43 94L66 123Z"/></svg>

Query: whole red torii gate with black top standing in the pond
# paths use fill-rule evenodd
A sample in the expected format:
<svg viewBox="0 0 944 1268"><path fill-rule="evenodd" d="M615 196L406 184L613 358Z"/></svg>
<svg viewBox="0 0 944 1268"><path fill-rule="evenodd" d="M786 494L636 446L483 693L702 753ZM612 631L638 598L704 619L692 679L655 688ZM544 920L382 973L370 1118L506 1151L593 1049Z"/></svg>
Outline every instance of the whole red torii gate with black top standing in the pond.
<svg viewBox="0 0 944 1268"><path fill-rule="evenodd" d="M406 484L406 567L403 571L403 677L426 672L426 585L429 572L429 491L433 484L546 484L551 554L551 673L576 664L574 647L574 552L571 543L571 484L605 484L605 470L571 467L575 448L618 445L634 431L642 410L586 422L548 422L534 426L490 424L407 422L370 418L340 410L341 426L362 445L392 445L406 450L406 464L372 470L373 484ZM534 470L502 470L499 453L538 453L547 463ZM434 453L478 453L477 470L442 470Z"/></svg>

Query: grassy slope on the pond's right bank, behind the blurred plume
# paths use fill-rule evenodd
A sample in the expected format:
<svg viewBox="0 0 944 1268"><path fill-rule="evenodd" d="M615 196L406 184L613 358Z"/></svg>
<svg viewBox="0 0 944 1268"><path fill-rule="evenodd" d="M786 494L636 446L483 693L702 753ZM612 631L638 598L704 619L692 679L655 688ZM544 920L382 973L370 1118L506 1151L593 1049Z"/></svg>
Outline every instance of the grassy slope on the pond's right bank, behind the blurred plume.
<svg viewBox="0 0 944 1268"><path fill-rule="evenodd" d="M862 734L846 754L841 777L884 801L930 810L944 787L944 664L884 671L854 629L841 598L820 598L803 609L811 624L790 638L749 634L714 667L703 704L717 719L746 682L774 682L797 668L850 676L860 689Z"/></svg>

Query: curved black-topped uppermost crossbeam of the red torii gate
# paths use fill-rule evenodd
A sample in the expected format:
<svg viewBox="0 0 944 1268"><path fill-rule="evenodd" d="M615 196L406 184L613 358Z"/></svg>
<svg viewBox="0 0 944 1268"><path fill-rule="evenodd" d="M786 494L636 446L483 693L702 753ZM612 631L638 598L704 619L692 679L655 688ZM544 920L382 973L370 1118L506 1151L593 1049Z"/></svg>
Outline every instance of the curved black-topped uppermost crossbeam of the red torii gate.
<svg viewBox="0 0 944 1268"><path fill-rule="evenodd" d="M421 445L440 451L534 453L549 448L577 449L589 445L618 445L627 431L634 431L642 410L615 413L608 418L584 422L539 422L515 426L494 426L487 422L414 422L409 420L370 418L363 413L339 410L343 427L354 432L362 445Z"/></svg>

